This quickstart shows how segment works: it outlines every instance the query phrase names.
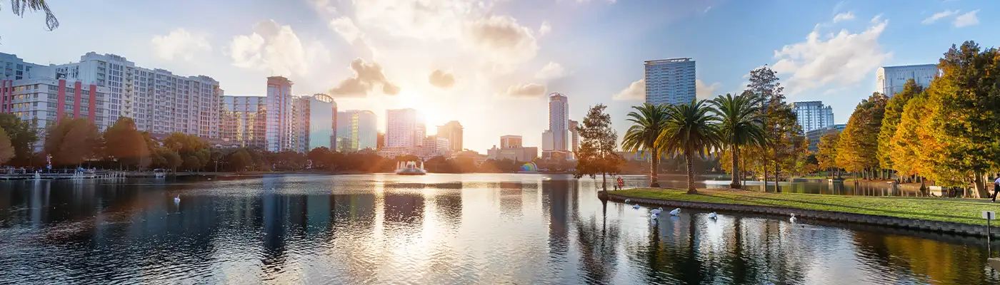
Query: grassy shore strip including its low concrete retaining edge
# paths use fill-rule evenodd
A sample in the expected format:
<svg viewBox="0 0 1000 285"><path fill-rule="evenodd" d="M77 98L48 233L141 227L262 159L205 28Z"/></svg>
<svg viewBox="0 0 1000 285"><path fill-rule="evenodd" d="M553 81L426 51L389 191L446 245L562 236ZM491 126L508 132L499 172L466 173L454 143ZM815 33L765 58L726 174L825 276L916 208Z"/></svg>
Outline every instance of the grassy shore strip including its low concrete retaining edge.
<svg viewBox="0 0 1000 285"><path fill-rule="evenodd" d="M900 202L899 197L830 195L835 199L847 202L844 204L829 206L828 204L824 204L822 202L797 199L800 198L798 195L809 194L716 189L698 189L698 191L698 194L686 194L684 193L684 190L631 189L601 191L598 193L598 196L602 199L608 199L616 202L624 202L625 199L631 199L633 203L668 207L698 208L783 216L789 216L791 213L795 213L795 216L800 220L816 219L983 237L987 235L986 220L976 219L976 217L979 217L980 215L979 210L1000 210L1000 206L997 204L987 202L962 201L944 198L902 197L907 199L906 201L902 201L902 203L908 203L910 202L910 199L926 199L926 201L923 202L933 203L931 205L927 205L928 207L945 206L945 210L965 210L961 212L961 215L947 216L947 219L952 219L947 220L946 218L938 217L941 214L936 213L922 213L916 211L900 212L899 210L894 210L898 208L894 206L896 206L895 203ZM729 200L730 202L726 202L726 200ZM851 203L850 201L856 201L858 203ZM873 202L885 203L887 205L885 208L874 208L870 206ZM951 207L949 208L948 206ZM850 210L825 209L827 207ZM972 208L977 208L978 210L971 212ZM1000 232L998 231L1000 231L1000 228L991 229L991 236L1000 236Z"/></svg>

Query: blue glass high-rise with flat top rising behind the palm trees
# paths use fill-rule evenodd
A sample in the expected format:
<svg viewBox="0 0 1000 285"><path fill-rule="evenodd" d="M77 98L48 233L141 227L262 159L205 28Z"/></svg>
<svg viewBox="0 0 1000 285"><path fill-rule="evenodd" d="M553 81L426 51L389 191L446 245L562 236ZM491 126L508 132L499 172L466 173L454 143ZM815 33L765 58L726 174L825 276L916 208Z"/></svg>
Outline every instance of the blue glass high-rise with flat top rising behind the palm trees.
<svg viewBox="0 0 1000 285"><path fill-rule="evenodd" d="M697 96L695 64L690 58L646 62L646 103L689 104Z"/></svg>

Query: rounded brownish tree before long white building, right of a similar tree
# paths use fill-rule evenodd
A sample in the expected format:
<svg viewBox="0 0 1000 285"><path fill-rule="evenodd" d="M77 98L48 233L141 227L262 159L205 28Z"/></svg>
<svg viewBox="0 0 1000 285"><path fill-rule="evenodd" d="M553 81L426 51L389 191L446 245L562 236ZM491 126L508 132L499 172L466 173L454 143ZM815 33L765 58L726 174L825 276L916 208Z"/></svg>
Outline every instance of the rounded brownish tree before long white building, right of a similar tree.
<svg viewBox="0 0 1000 285"><path fill-rule="evenodd" d="M114 125L104 131L104 145L105 154L108 158L118 160L119 167L138 164L143 156L149 154L142 133L128 117L119 117Z"/></svg>

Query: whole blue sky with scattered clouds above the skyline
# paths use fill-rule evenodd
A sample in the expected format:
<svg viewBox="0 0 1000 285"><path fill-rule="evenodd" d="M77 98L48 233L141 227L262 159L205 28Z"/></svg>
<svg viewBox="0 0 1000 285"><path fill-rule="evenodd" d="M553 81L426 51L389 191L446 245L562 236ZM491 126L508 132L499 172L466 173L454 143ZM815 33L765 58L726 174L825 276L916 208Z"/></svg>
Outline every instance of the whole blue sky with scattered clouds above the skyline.
<svg viewBox="0 0 1000 285"><path fill-rule="evenodd" d="M952 44L995 47L1000 2L725 0L53 1L60 26L0 3L0 52L27 62L117 54L206 75L226 95L334 96L340 110L414 108L458 121L480 152L500 136L541 144L547 95L570 120L608 106L619 139L643 102L643 62L693 58L699 98L739 94L772 67L789 102L823 101L845 124L880 66L935 64ZM994 27L990 29L989 27ZM428 135L435 132L428 128Z"/></svg>

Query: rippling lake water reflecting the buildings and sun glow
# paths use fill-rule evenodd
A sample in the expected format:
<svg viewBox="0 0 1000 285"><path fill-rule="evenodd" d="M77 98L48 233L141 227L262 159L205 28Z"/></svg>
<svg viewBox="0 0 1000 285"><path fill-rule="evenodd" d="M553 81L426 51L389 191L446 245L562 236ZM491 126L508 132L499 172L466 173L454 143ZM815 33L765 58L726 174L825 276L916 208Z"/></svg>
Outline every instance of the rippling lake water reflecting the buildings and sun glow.
<svg viewBox="0 0 1000 285"><path fill-rule="evenodd" d="M651 223L594 187L542 174L0 182L0 283L1000 283L981 238L689 209Z"/></svg>

